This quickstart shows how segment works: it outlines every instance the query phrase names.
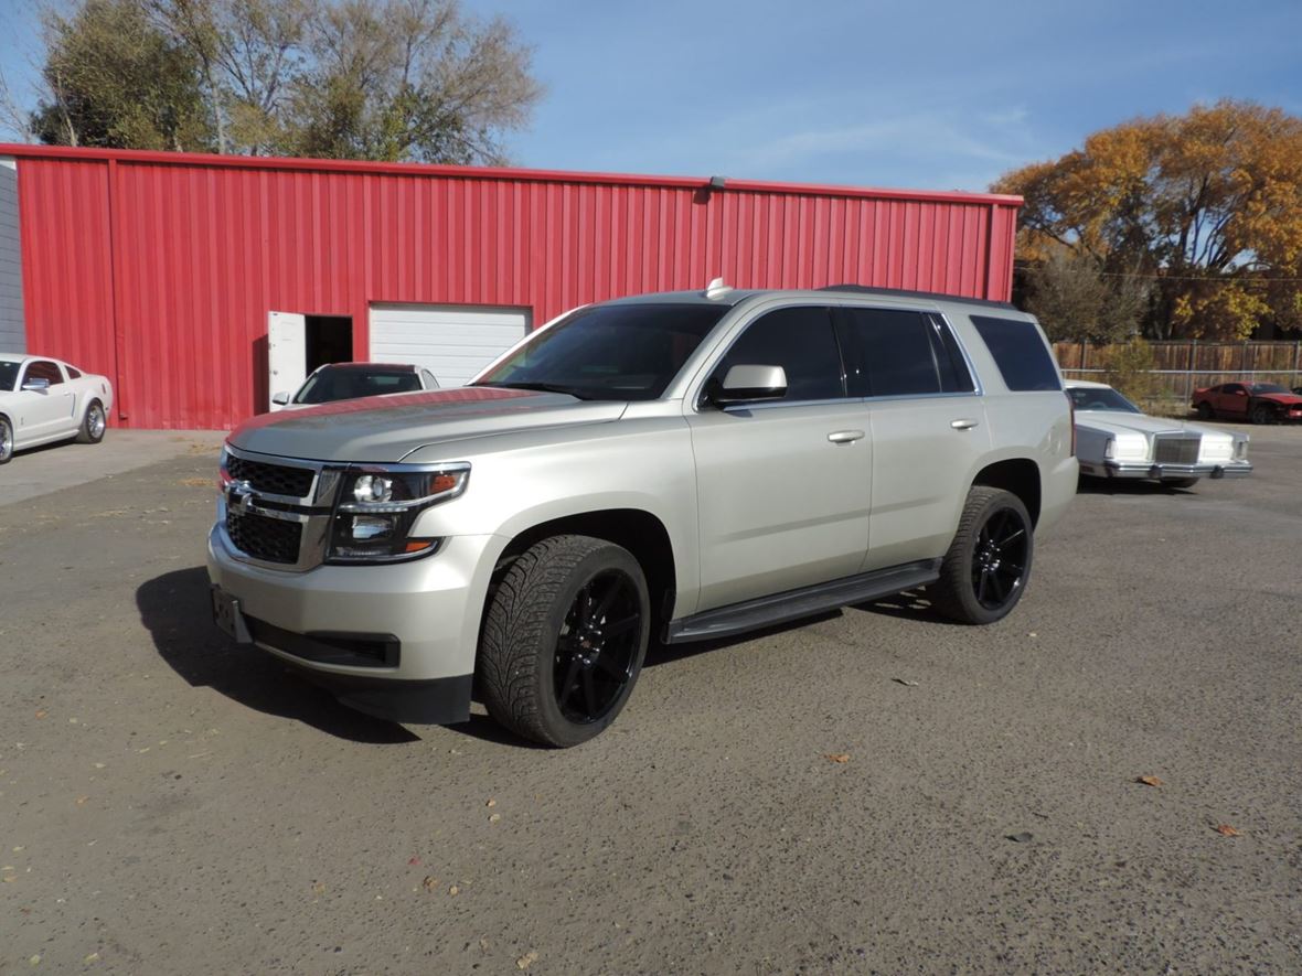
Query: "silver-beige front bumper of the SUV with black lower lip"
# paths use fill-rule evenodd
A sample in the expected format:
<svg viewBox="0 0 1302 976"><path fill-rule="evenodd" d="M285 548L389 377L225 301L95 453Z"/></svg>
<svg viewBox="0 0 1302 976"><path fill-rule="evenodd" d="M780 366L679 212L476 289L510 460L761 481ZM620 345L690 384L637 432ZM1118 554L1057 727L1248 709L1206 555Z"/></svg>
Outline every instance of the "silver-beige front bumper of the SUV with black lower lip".
<svg viewBox="0 0 1302 976"><path fill-rule="evenodd" d="M208 576L236 601L242 634L346 705L398 722L470 713L479 619L497 536L454 536L413 562L289 573L238 560L221 526Z"/></svg>

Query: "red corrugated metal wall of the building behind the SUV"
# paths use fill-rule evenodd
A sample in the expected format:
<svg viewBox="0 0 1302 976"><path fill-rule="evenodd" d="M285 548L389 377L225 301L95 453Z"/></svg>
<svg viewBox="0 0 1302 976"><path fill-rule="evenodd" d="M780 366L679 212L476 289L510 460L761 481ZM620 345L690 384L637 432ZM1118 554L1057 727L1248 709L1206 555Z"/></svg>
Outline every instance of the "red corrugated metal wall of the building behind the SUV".
<svg viewBox="0 0 1302 976"><path fill-rule="evenodd" d="M104 372L117 423L266 409L268 311L858 282L1006 299L1016 198L0 147L18 156L27 347Z"/></svg>

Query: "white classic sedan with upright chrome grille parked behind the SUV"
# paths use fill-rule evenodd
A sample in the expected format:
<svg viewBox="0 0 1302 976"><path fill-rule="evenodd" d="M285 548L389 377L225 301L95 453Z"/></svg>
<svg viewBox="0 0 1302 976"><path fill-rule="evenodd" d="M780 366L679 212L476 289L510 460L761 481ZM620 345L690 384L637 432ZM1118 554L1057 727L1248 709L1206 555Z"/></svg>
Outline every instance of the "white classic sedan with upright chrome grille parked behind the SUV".
<svg viewBox="0 0 1302 976"><path fill-rule="evenodd" d="M1247 435L1148 416L1104 383L1068 380L1081 474L1147 478L1187 488L1199 478L1246 475Z"/></svg>

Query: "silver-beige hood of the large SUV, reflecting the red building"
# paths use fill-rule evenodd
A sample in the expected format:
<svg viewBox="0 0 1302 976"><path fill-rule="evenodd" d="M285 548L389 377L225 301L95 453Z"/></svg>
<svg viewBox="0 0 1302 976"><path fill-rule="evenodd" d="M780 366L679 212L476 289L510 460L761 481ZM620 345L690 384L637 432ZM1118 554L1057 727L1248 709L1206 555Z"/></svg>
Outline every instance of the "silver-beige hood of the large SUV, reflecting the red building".
<svg viewBox="0 0 1302 976"><path fill-rule="evenodd" d="M311 461L395 463L418 448L533 427L617 420L628 403L564 393L465 386L342 400L263 414L236 428L241 450Z"/></svg>

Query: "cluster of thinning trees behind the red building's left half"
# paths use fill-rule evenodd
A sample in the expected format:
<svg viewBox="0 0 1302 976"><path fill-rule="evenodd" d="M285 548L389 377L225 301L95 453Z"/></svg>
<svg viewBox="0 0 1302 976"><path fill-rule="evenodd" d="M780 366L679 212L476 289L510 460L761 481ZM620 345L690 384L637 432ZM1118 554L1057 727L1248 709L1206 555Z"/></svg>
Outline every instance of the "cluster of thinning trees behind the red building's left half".
<svg viewBox="0 0 1302 976"><path fill-rule="evenodd" d="M492 164L542 91L514 29L458 0L79 0L46 22L47 142ZM171 144L137 121L152 104L185 122Z"/></svg>

